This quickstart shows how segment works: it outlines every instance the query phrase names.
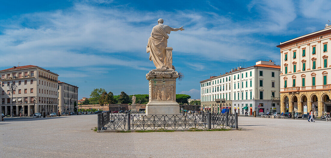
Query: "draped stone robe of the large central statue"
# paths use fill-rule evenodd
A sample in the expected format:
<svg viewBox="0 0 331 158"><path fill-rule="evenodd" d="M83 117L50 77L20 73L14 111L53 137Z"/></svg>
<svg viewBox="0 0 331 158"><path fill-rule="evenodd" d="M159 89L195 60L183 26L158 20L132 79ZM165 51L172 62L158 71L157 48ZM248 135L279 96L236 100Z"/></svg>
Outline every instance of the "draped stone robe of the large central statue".
<svg viewBox="0 0 331 158"><path fill-rule="evenodd" d="M148 39L147 47L150 48L149 60L154 62L155 67L164 71L167 68L165 65L166 47L170 34L171 27L167 25L156 25L153 27L151 37Z"/></svg>

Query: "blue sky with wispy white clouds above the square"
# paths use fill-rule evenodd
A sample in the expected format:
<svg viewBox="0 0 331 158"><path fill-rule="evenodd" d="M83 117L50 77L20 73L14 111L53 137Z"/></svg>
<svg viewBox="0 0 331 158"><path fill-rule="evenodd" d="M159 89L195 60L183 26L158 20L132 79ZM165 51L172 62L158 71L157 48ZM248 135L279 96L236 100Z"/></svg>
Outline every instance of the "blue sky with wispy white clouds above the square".
<svg viewBox="0 0 331 158"><path fill-rule="evenodd" d="M0 2L0 68L37 65L79 87L118 95L148 94L154 69L147 40L159 18L172 32L173 65L184 74L177 94L199 98L199 81L257 59L279 64L279 48L324 28L330 1L116 1Z"/></svg>

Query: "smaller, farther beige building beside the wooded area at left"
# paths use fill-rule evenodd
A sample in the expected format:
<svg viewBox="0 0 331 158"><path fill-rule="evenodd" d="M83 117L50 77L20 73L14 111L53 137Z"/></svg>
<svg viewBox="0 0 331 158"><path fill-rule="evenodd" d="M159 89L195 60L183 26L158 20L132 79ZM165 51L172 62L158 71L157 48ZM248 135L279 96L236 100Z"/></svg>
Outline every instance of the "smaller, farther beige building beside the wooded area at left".
<svg viewBox="0 0 331 158"><path fill-rule="evenodd" d="M59 111L74 112L78 102L78 87L58 81ZM76 106L76 107L75 107Z"/></svg>

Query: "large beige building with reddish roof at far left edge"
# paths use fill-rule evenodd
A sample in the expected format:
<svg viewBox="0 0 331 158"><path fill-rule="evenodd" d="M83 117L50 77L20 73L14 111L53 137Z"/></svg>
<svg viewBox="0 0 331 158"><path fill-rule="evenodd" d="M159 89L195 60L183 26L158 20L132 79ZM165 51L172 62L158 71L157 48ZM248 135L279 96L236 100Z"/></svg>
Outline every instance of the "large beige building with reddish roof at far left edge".
<svg viewBox="0 0 331 158"><path fill-rule="evenodd" d="M58 74L38 66L14 66L1 70L1 108L7 115L58 111ZM16 87L11 90L10 88Z"/></svg>

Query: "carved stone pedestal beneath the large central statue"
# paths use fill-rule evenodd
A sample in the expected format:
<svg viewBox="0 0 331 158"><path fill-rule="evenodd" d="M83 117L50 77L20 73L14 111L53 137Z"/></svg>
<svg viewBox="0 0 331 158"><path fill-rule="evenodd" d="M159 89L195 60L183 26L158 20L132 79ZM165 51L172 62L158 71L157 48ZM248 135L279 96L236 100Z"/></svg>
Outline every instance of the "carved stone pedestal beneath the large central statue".
<svg viewBox="0 0 331 158"><path fill-rule="evenodd" d="M176 79L178 77L178 72L173 69L167 69L164 72L153 69L146 74L146 79L149 80L147 115L179 114L179 104L176 102Z"/></svg>

